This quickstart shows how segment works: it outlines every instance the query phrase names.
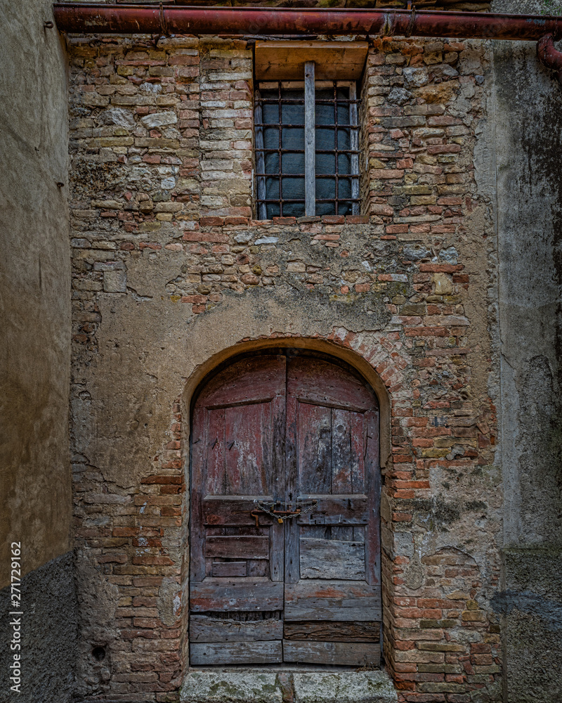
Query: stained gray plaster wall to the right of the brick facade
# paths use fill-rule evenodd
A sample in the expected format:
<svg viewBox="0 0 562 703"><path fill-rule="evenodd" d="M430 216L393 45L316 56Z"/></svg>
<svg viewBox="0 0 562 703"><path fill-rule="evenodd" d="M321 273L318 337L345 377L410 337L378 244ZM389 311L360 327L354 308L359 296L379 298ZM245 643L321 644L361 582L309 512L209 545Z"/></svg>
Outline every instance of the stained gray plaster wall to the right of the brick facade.
<svg viewBox="0 0 562 703"><path fill-rule="evenodd" d="M496 3L495 11L540 7ZM562 88L495 42L504 700L562 698Z"/></svg>

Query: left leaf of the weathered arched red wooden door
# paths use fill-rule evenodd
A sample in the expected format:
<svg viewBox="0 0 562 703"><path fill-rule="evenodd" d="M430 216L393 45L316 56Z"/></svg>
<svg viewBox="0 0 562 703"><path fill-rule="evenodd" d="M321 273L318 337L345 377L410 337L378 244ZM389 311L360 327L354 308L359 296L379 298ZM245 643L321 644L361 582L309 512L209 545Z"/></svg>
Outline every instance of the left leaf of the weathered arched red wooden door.
<svg viewBox="0 0 562 703"><path fill-rule="evenodd" d="M285 356L228 366L192 423L190 662L282 662L283 525L254 501L282 496Z"/></svg>

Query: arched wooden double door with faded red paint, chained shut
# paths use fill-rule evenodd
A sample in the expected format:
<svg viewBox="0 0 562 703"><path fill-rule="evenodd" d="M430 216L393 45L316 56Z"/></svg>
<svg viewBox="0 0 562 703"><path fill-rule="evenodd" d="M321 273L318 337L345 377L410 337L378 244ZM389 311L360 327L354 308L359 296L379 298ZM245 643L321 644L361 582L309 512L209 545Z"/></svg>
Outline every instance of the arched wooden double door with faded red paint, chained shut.
<svg viewBox="0 0 562 703"><path fill-rule="evenodd" d="M294 349L235 361L195 402L191 465L191 665L377 665L372 388Z"/></svg>

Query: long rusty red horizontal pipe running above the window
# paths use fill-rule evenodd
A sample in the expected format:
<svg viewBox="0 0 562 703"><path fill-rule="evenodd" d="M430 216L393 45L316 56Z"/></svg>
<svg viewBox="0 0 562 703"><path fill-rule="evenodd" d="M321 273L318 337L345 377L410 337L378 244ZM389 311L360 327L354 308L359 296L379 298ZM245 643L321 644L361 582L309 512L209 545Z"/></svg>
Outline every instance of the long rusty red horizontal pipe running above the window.
<svg viewBox="0 0 562 703"><path fill-rule="evenodd" d="M537 41L562 17L478 12L54 4L61 32L99 34L370 34Z"/></svg>

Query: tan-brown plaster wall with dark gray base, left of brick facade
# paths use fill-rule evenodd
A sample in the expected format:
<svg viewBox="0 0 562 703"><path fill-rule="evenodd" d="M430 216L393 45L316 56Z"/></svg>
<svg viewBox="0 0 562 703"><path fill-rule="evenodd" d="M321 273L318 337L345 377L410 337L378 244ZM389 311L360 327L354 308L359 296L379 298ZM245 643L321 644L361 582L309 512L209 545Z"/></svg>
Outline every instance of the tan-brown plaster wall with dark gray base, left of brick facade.
<svg viewBox="0 0 562 703"><path fill-rule="evenodd" d="M76 636L67 60L60 35L45 21L53 22L46 0L0 5L0 597L6 606L10 546L18 541L20 699L63 703L72 690ZM2 612L0 697L8 699L13 652L6 607Z"/></svg>

